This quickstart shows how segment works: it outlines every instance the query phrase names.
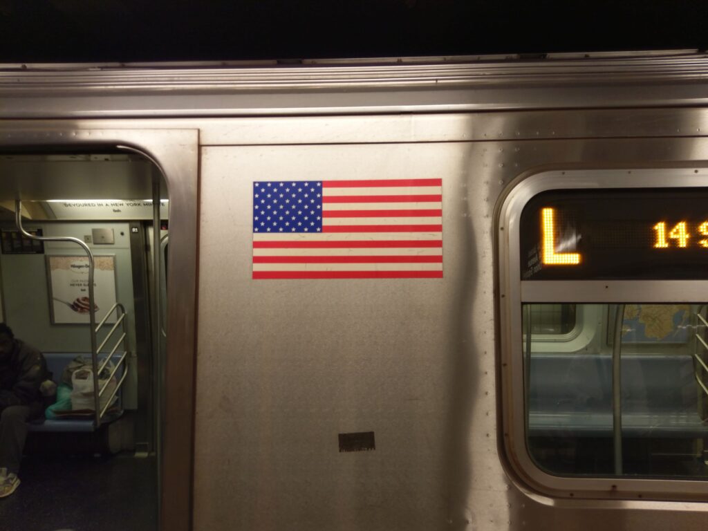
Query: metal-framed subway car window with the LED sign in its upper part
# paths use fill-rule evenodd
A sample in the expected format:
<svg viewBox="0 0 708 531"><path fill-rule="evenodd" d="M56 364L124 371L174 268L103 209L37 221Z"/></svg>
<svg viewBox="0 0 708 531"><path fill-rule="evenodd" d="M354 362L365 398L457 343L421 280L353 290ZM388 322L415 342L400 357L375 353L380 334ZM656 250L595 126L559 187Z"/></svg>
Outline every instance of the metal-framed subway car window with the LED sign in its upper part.
<svg viewBox="0 0 708 531"><path fill-rule="evenodd" d="M555 494L692 496L708 479L708 188L697 173L547 172L501 209L508 447Z"/></svg>

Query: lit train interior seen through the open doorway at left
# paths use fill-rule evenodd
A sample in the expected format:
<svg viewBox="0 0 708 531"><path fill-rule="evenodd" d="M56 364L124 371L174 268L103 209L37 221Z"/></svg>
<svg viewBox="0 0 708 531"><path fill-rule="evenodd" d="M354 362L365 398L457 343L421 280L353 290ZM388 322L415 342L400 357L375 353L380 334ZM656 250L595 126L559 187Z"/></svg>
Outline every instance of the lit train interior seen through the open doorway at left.
<svg viewBox="0 0 708 531"><path fill-rule="evenodd" d="M45 354L58 386L46 420L31 423L21 486L0 501L1 527L154 530L166 348L164 179L141 155L115 150L3 154L0 196L1 320ZM67 236L93 254L93 340L86 249L46 239ZM94 349L106 389L98 418L95 396L87 404L77 389L81 368L95 375Z"/></svg>

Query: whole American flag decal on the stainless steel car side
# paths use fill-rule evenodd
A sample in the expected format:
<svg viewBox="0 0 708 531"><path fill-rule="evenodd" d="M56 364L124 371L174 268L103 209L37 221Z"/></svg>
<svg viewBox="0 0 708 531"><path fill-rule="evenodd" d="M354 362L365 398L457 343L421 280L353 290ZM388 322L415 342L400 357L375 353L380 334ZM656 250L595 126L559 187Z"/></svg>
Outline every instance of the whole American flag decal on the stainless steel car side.
<svg viewBox="0 0 708 531"><path fill-rule="evenodd" d="M253 183L253 278L442 278L442 179Z"/></svg>

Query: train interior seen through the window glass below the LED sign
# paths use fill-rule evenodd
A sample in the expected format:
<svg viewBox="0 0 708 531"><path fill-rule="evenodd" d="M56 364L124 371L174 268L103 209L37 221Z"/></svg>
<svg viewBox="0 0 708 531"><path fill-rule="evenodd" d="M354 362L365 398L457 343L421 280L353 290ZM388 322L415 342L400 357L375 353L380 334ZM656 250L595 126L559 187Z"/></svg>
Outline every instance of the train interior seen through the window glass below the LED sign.
<svg viewBox="0 0 708 531"><path fill-rule="evenodd" d="M559 476L708 477L706 308L525 304L527 447L536 464Z"/></svg>

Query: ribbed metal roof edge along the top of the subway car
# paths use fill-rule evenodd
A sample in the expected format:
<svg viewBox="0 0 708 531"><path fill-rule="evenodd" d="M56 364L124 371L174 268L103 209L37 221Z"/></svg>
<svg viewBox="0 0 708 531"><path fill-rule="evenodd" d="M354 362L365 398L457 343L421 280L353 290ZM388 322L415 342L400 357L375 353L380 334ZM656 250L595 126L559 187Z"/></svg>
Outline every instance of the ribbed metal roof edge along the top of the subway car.
<svg viewBox="0 0 708 531"><path fill-rule="evenodd" d="M708 75L708 55L695 50L592 55L562 54L545 59L471 57L356 59L348 63L307 61L0 65L0 90L169 89L329 89L331 86L415 86L439 84L547 83L549 81L636 81L701 79Z"/></svg>

